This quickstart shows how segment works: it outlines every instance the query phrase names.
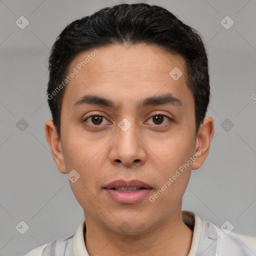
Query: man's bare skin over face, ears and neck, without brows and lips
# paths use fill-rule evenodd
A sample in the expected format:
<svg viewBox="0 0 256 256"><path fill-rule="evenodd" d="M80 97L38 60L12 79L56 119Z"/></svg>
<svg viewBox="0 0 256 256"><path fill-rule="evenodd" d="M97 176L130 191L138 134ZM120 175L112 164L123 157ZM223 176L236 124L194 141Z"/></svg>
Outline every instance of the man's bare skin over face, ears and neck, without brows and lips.
<svg viewBox="0 0 256 256"><path fill-rule="evenodd" d="M66 85L61 107L61 139L52 120L45 122L45 135L61 173L75 169L80 178L69 181L86 220L84 241L89 255L187 255L192 230L181 218L182 196L191 169L207 157L214 134L213 119L206 116L195 133L194 100L185 82L184 60L156 46L111 45L99 52ZM73 68L91 51L78 54ZM169 72L178 67L174 80ZM164 104L136 109L148 96L170 92L182 106ZM84 94L106 97L119 108L73 104ZM97 122L97 114L105 118ZM167 115L157 122L154 115ZM118 123L126 118L131 127ZM94 126L93 126L94 125ZM196 152L200 156L158 197L122 204L102 189L116 179L139 179L150 184L153 195ZM130 229L118 226L126 221Z"/></svg>

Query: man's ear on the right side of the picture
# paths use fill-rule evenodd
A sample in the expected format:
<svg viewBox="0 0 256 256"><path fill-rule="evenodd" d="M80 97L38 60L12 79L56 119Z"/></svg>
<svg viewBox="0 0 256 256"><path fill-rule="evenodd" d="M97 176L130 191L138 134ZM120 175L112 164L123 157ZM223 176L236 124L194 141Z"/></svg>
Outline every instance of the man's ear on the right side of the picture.
<svg viewBox="0 0 256 256"><path fill-rule="evenodd" d="M192 169L198 169L206 159L209 149L210 141L214 134L214 121L211 116L206 116L197 132L195 140L194 155L198 157L192 163Z"/></svg>

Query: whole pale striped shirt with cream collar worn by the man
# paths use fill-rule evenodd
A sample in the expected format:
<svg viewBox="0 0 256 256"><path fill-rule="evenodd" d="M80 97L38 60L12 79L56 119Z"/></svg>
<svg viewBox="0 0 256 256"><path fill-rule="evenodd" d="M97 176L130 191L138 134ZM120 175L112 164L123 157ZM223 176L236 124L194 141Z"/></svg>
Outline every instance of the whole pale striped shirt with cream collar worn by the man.
<svg viewBox="0 0 256 256"><path fill-rule="evenodd" d="M193 230L187 256L255 256L256 237L221 230L211 222L200 219L194 212L182 210L183 222ZM29 251L24 256L89 256L83 239L85 219L77 231L65 240L54 240ZM228 234L227 234L228 233ZM95 254L97 255L97 254ZM94 256L94 255L92 255Z"/></svg>

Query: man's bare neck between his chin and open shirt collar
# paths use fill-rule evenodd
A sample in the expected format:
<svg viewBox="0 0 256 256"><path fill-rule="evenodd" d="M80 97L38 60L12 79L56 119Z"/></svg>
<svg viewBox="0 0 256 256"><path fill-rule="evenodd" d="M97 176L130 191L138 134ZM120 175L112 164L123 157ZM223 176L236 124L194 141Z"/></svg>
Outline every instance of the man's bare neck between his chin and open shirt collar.
<svg viewBox="0 0 256 256"><path fill-rule="evenodd" d="M84 240L90 256L185 256L191 246L193 231L182 221L181 205L156 227L139 234L119 234L102 226L88 215L85 219Z"/></svg>

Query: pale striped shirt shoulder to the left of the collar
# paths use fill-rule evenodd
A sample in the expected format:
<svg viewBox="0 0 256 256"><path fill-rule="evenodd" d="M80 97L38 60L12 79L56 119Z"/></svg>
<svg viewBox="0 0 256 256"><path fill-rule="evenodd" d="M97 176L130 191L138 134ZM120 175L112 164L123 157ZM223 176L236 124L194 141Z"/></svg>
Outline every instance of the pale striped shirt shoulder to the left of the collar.
<svg viewBox="0 0 256 256"><path fill-rule="evenodd" d="M24 256L73 256L73 237L74 234L66 239L50 241L42 246L32 249Z"/></svg>

